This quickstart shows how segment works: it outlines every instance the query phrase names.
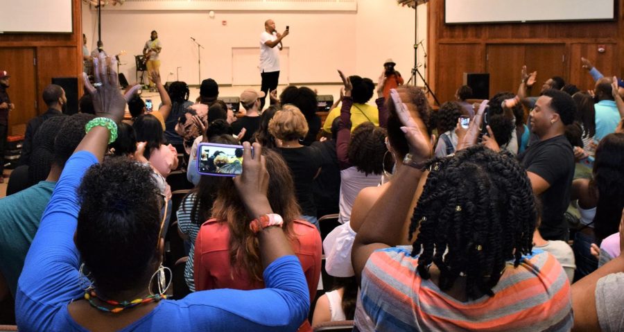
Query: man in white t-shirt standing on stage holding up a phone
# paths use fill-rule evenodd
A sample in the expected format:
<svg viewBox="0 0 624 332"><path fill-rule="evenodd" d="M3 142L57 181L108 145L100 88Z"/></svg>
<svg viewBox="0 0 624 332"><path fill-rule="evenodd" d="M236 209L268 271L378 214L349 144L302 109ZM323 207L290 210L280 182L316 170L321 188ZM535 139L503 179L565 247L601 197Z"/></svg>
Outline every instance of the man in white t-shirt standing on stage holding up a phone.
<svg viewBox="0 0 624 332"><path fill-rule="evenodd" d="M282 49L281 40L288 35L288 27L284 33L275 30L275 21L268 19L264 22L264 32L260 35L260 75L262 76L261 91L265 97L270 91L277 89L279 80L279 51ZM260 100L260 110L264 107L265 97Z"/></svg>

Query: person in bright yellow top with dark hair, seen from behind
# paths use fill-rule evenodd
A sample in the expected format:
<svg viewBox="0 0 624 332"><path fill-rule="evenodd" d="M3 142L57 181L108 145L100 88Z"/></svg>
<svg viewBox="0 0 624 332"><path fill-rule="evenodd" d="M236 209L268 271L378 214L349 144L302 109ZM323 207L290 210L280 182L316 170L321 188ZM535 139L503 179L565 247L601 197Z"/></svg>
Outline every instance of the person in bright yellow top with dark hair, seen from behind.
<svg viewBox="0 0 624 332"><path fill-rule="evenodd" d="M354 130L363 122L372 122L379 125L379 105L383 104L384 98L377 98L375 103L377 107L368 105L368 101L373 96L375 85L370 78L361 78L360 76L349 76L349 80L353 85L351 96L353 98L353 107L351 110L351 122ZM325 132L330 132L333 119L340 117L340 108L336 107L327 114L327 119L323 125Z"/></svg>

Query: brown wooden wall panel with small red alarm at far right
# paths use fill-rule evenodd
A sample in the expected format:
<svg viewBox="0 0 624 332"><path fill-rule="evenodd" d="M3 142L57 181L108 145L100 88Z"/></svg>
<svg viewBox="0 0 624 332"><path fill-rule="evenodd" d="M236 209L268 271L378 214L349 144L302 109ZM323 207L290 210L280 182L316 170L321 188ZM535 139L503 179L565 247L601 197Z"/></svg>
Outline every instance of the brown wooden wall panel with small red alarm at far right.
<svg viewBox="0 0 624 332"><path fill-rule="evenodd" d="M598 45L605 45L605 53L598 52ZM587 58L605 76L619 76L617 44L572 44L570 57L570 82L579 89L593 89L593 78L581 67L580 58Z"/></svg>

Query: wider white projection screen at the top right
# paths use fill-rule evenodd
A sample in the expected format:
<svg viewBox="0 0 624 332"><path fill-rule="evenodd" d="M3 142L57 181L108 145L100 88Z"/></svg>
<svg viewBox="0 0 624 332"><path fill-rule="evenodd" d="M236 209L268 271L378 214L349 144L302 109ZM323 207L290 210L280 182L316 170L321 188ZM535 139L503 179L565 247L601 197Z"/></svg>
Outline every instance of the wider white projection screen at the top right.
<svg viewBox="0 0 624 332"><path fill-rule="evenodd" d="M614 0L445 0L447 24L615 19Z"/></svg>

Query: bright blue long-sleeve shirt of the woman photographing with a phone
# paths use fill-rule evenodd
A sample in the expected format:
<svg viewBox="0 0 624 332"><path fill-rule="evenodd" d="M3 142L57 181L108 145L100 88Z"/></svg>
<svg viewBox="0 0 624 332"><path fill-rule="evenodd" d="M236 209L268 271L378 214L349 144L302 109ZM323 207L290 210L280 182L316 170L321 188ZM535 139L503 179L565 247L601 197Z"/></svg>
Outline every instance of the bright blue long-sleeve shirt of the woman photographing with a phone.
<svg viewBox="0 0 624 332"><path fill-rule="evenodd" d="M80 211L76 189L96 163L91 153L77 152L64 167L17 284L19 331L86 331L67 306L84 295L73 243ZM299 260L283 256L264 270L263 278L266 288L261 290L208 290L162 300L121 331L295 331L310 304Z"/></svg>

